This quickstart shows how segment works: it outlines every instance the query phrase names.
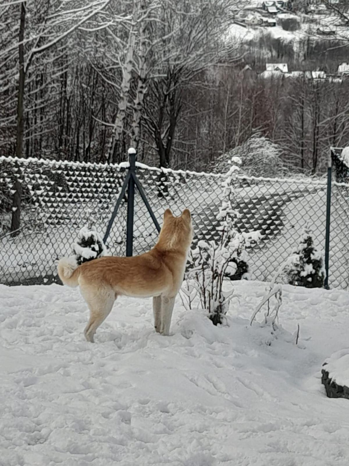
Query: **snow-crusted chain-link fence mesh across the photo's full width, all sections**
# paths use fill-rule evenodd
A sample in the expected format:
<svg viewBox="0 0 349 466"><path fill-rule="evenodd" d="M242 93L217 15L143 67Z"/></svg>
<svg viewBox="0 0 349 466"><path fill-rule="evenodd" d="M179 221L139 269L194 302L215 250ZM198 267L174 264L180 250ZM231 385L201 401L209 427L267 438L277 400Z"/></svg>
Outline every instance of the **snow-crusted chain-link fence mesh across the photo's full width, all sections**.
<svg viewBox="0 0 349 466"><path fill-rule="evenodd" d="M0 158L0 283L59 282L57 260L72 254L77 233L85 225L96 226L102 235L110 225L107 248L110 254L125 255L128 191L112 224L110 219L128 172L128 163ZM193 216L194 241L219 239L217 214L226 175L160 170L138 163L135 173L160 226L166 208L178 215L188 207ZM328 207L325 179L237 176L232 183L239 212L236 228L261 235L261 240L248 249L252 279L271 280L298 244L307 222L315 247L324 250ZM141 254L154 246L158 231L137 189L133 204L133 254ZM349 286L348 207L349 185L333 182L330 288ZM14 228L17 213L19 226Z"/></svg>

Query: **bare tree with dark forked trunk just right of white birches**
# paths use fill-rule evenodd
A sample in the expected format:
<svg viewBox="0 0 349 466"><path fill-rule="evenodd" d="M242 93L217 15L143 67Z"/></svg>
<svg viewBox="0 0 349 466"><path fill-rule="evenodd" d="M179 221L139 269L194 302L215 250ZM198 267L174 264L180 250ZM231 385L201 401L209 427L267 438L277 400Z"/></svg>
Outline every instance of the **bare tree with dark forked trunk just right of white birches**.
<svg viewBox="0 0 349 466"><path fill-rule="evenodd" d="M222 41L224 18L232 1L182 0L160 10L152 37L161 39L153 49L153 76L146 96L144 128L158 153L159 165L171 165L175 131L186 90L205 69L221 59L227 48ZM159 42L159 39L157 43Z"/></svg>

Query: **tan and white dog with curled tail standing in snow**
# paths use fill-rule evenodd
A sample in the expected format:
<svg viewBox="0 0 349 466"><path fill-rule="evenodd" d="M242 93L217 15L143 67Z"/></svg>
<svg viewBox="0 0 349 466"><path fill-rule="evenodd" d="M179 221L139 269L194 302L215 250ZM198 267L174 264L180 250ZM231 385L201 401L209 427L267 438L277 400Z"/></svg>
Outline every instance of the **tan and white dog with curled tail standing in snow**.
<svg viewBox="0 0 349 466"><path fill-rule="evenodd" d="M60 280L70 287L80 286L90 309L84 330L87 341L93 343L97 328L112 310L115 299L122 295L153 297L155 330L168 335L192 239L189 210L174 217L167 209L158 242L148 253L134 257L105 256L80 266L72 258L60 259Z"/></svg>

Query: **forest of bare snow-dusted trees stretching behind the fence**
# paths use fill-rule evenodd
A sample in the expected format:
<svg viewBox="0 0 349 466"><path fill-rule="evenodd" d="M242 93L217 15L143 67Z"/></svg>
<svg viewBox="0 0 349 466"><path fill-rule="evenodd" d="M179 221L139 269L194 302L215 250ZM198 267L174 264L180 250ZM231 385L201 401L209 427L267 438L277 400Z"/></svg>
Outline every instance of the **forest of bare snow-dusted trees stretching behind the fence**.
<svg viewBox="0 0 349 466"><path fill-rule="evenodd" d="M144 163L204 170L259 134L283 170L321 172L349 144L349 79L258 72L334 71L346 42L224 40L236 3L2 1L0 154L115 163L132 145Z"/></svg>

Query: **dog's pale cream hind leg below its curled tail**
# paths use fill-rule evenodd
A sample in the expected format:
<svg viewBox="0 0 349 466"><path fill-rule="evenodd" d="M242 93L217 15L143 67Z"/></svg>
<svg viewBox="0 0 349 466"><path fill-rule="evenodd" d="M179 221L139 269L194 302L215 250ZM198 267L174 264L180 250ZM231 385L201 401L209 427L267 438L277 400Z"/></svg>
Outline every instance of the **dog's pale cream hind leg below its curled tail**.
<svg viewBox="0 0 349 466"><path fill-rule="evenodd" d="M88 290L86 294L89 296L85 296L83 289L81 289L81 294L84 296L90 309L90 318L85 327L84 335L88 342L94 343L96 330L113 308L115 294L112 290L103 290L103 292L91 296L91 292Z"/></svg>

